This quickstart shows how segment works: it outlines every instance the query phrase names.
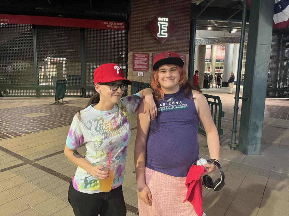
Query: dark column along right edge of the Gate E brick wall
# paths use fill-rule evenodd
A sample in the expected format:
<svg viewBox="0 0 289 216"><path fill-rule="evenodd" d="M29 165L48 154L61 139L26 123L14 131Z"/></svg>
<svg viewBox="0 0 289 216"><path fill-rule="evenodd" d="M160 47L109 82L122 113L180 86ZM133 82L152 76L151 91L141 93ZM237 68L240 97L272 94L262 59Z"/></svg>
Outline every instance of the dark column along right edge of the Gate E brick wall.
<svg viewBox="0 0 289 216"><path fill-rule="evenodd" d="M193 76L194 76L196 27L197 27L197 20L191 19L189 68L188 68L188 77L191 80L193 79Z"/></svg>

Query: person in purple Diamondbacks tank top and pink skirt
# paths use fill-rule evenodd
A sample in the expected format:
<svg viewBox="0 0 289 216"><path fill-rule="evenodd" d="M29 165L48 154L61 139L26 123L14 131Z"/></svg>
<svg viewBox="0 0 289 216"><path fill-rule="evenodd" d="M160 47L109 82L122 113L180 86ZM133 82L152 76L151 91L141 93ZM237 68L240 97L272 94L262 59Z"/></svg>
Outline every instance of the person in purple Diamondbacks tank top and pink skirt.
<svg viewBox="0 0 289 216"><path fill-rule="evenodd" d="M219 160L219 136L208 102L199 88L188 82L184 62L177 53L165 51L153 63L151 86L158 114L149 122L138 109L135 170L140 216L192 216L186 198L186 176L199 155L198 123L204 125L211 158ZM205 174L216 170L206 164ZM200 192L199 192L200 193ZM199 194L201 197L201 194Z"/></svg>

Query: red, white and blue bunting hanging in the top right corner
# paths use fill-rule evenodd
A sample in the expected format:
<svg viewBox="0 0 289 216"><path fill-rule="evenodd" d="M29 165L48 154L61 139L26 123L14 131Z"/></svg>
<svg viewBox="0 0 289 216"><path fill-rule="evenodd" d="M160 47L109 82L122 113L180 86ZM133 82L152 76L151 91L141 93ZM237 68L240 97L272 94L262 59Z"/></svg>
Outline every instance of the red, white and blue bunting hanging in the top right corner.
<svg viewBox="0 0 289 216"><path fill-rule="evenodd" d="M248 4L251 4L248 0ZM289 25L289 0L275 0L273 28L283 29Z"/></svg>

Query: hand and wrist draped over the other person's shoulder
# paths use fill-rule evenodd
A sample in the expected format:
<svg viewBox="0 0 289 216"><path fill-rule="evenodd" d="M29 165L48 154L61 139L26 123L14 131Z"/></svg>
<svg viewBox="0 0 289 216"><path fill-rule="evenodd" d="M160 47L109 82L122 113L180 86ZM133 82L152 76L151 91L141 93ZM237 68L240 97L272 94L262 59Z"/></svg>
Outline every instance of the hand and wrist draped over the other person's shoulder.
<svg viewBox="0 0 289 216"><path fill-rule="evenodd" d="M148 121L154 120L157 116L157 106L154 102L153 90L151 88L145 88L138 92L141 95L141 99L144 98L144 111L143 114L147 113Z"/></svg>

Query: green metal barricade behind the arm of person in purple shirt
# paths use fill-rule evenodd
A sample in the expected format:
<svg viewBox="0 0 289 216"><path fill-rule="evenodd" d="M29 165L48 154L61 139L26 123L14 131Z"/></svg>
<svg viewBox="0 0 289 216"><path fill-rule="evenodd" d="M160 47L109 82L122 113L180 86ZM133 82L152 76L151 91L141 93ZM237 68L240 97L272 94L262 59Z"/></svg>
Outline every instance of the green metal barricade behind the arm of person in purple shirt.
<svg viewBox="0 0 289 216"><path fill-rule="evenodd" d="M203 94L203 95L207 98L207 101L211 110L211 115L218 129L218 134L220 137L220 135L223 135L223 129L221 129L222 117L225 116L225 112L222 111L221 99L219 96L207 95L207 94ZM213 101L211 101L210 99L213 99ZM199 122L198 132L206 136L206 131L201 122Z"/></svg>

